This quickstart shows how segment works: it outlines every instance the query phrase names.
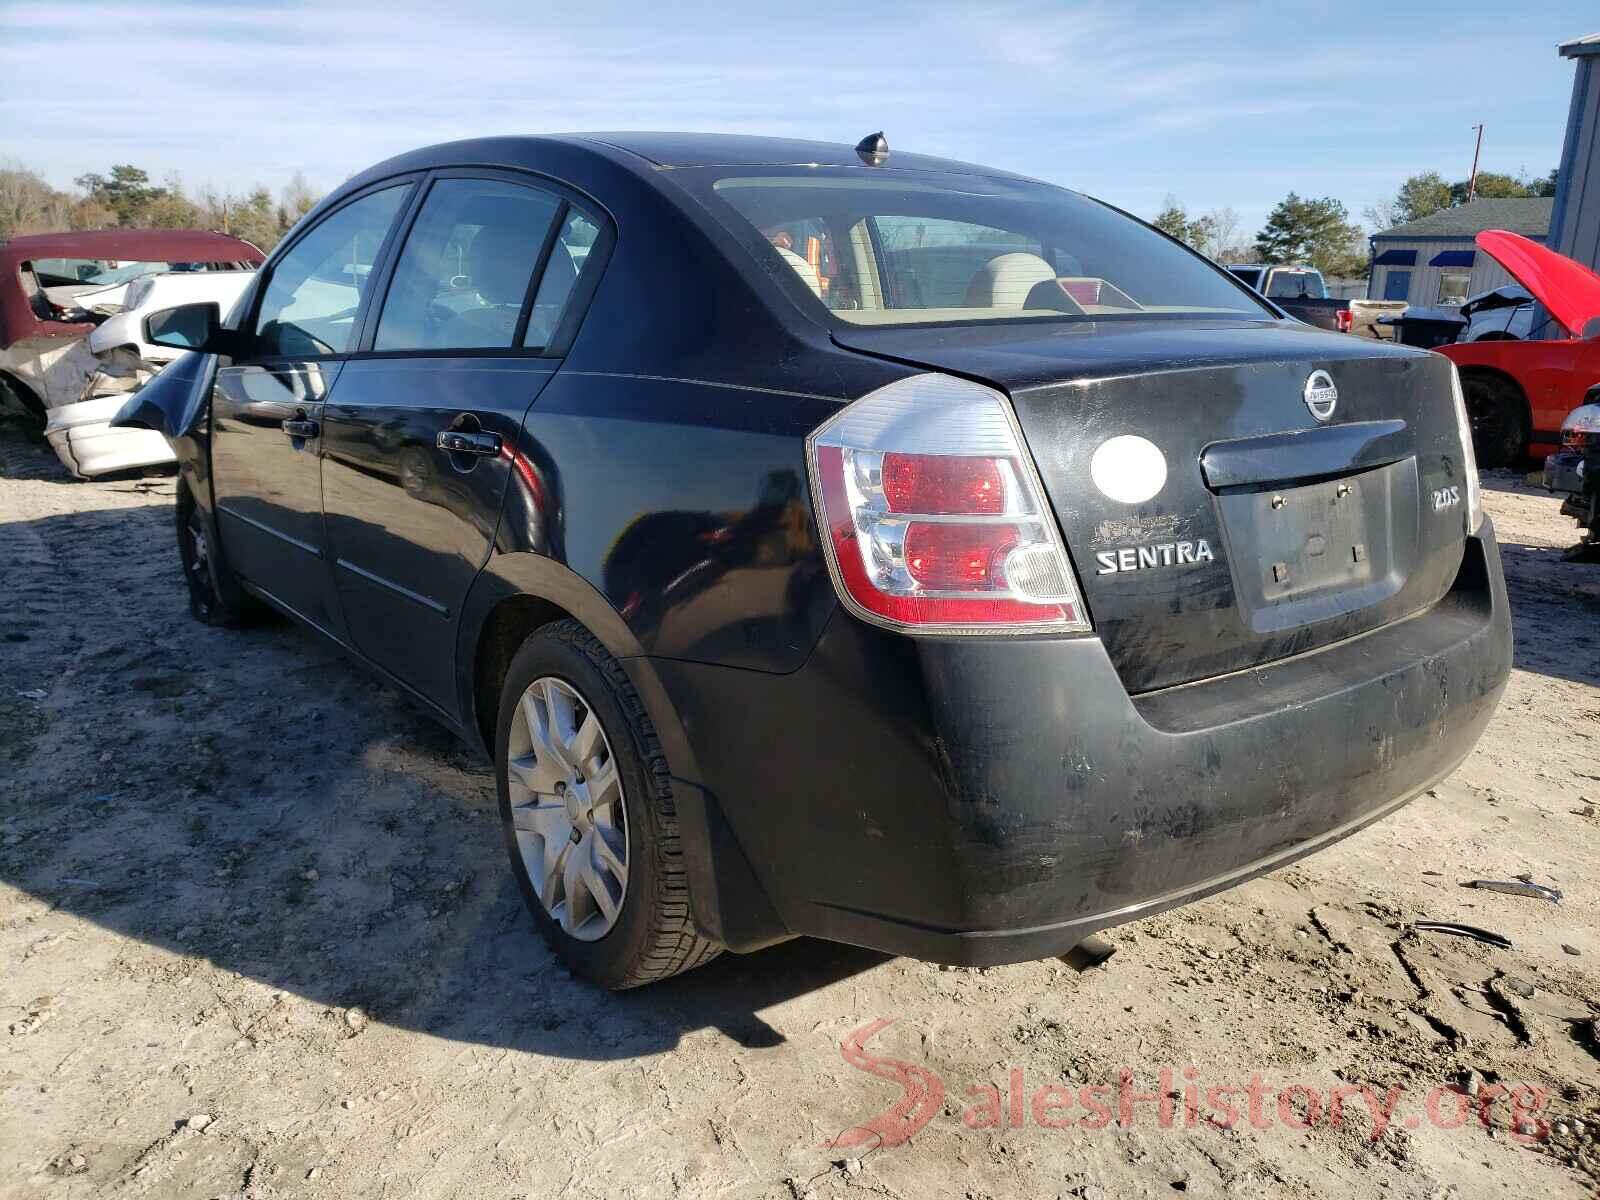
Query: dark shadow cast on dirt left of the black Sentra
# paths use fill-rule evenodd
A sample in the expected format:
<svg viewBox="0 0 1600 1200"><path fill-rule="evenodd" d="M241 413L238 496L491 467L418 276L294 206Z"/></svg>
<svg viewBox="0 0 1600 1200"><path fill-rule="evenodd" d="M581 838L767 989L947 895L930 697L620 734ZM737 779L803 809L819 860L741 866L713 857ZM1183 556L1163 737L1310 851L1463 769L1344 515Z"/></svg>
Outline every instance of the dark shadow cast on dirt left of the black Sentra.
<svg viewBox="0 0 1600 1200"><path fill-rule="evenodd" d="M309 632L194 622L171 520L170 502L0 509L5 883L181 955L174 976L206 960L442 1038L582 1059L699 1029L774 1045L763 1008L886 962L795 941L621 995L571 979L507 870L486 765Z"/></svg>

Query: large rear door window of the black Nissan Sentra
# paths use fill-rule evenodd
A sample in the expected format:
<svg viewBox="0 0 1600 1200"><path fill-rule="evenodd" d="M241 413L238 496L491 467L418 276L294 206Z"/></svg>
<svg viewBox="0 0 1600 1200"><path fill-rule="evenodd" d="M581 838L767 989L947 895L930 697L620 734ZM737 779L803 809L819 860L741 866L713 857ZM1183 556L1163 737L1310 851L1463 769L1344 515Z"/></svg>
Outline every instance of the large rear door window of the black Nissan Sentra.
<svg viewBox="0 0 1600 1200"><path fill-rule="evenodd" d="M560 210L560 197L502 179L437 181L395 264L373 349L514 347Z"/></svg>

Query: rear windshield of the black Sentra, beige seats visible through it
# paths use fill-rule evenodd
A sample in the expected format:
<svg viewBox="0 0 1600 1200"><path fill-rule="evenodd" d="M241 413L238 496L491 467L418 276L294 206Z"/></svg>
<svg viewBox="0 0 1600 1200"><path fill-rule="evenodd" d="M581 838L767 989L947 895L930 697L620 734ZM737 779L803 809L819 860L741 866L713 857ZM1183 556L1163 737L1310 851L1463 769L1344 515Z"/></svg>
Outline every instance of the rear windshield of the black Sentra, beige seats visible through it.
<svg viewBox="0 0 1600 1200"><path fill-rule="evenodd" d="M674 174L790 294L851 325L1267 315L1226 272L1046 184L816 166Z"/></svg>

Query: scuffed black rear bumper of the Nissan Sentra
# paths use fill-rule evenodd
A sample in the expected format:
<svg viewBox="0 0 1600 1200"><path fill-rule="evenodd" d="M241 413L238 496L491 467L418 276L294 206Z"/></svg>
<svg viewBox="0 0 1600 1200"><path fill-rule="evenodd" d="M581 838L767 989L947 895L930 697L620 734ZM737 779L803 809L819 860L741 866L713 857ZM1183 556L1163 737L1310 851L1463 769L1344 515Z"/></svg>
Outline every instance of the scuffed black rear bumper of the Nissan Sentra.
<svg viewBox="0 0 1600 1200"><path fill-rule="evenodd" d="M731 835L702 923L734 949L787 931L984 965L1062 954L1384 816L1467 755L1510 653L1485 525L1424 613L1139 696L1094 637L915 640L842 613L792 675L651 666L691 794Z"/></svg>

